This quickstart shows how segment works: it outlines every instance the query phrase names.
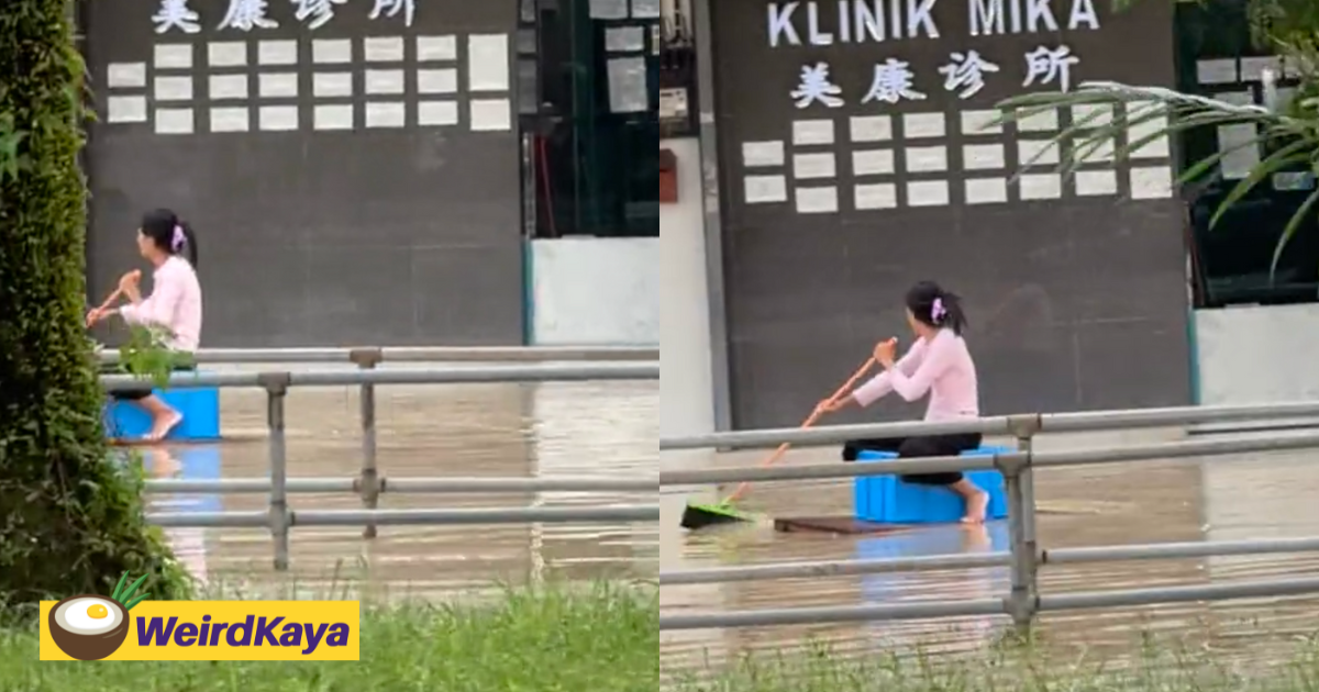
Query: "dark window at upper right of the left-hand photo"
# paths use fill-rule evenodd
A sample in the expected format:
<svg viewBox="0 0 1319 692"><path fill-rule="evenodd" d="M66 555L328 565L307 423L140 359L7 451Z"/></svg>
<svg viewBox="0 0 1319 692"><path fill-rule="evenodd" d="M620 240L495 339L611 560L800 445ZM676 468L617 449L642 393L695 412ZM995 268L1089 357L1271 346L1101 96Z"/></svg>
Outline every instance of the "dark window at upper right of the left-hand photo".
<svg viewBox="0 0 1319 692"><path fill-rule="evenodd" d="M658 236L660 0L521 0L528 235Z"/></svg>

